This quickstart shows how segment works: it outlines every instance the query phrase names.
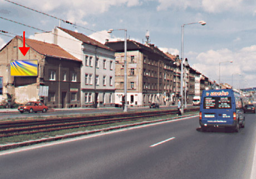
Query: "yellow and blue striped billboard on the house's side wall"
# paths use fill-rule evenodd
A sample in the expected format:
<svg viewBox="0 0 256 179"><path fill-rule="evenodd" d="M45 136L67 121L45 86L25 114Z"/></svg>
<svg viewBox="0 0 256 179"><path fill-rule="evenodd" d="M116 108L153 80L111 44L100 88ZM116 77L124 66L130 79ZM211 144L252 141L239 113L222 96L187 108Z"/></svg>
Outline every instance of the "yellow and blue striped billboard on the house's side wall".
<svg viewBox="0 0 256 179"><path fill-rule="evenodd" d="M11 76L37 76L37 59L11 60Z"/></svg>

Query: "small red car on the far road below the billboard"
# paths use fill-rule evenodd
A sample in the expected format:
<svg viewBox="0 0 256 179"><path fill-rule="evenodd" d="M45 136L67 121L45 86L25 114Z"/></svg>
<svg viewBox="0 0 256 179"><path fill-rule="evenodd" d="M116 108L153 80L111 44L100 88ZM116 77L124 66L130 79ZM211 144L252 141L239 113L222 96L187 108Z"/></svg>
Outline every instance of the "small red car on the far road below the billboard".
<svg viewBox="0 0 256 179"><path fill-rule="evenodd" d="M48 107L45 106L42 102L37 102L37 101L29 101L26 103L26 105L19 106L18 111L23 113L23 112L46 112L48 110Z"/></svg>

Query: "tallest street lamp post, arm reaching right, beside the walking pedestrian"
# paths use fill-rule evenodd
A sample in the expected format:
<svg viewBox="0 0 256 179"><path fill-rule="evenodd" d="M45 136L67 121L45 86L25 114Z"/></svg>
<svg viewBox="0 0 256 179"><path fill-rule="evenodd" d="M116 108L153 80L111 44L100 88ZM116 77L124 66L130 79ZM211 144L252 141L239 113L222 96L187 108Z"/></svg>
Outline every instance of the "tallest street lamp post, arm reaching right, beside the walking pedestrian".
<svg viewBox="0 0 256 179"><path fill-rule="evenodd" d="M183 63L184 63L184 59L183 59L183 55L184 55L184 26L186 25L191 25L191 24L201 24L202 26L204 26L206 24L206 22L204 21L199 21L199 22L193 22L193 23L187 23L187 24L183 24L181 26L181 74L180 74L180 96L181 96L181 113L184 112L184 108L183 108ZM186 99L185 99L186 100Z"/></svg>

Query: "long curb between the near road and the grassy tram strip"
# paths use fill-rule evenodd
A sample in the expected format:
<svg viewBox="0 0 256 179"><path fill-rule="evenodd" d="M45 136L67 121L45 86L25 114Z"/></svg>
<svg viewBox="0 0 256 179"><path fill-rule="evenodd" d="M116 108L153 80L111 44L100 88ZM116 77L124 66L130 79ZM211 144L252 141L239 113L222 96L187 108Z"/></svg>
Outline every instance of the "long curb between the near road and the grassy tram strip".
<svg viewBox="0 0 256 179"><path fill-rule="evenodd" d="M24 146L31 146L31 145L35 145L35 144L38 144L38 143L53 142L53 141L63 140L63 139L66 139L66 138L74 138L74 137L80 137L80 136L85 136L85 135L91 135L93 133L100 133L102 131L103 132L107 132L107 131L112 131L112 130L120 130L122 128L127 128L127 127L147 125L147 124L150 124L150 123L157 123L157 122L163 122L163 121L176 120L176 119L179 119L179 118L190 117L190 116L195 116L195 115L186 115L186 116L168 118L168 119L163 119L163 120L147 121L147 122L141 122L141 123L134 123L134 124L131 124L131 125L103 128L103 129L100 129L100 130L75 133L75 134L65 135L65 136L44 138L44 139L35 140L35 141L26 141L26 142L20 142L20 143L13 143L11 145L0 146L0 151L9 150L9 149L18 148L18 147L24 147Z"/></svg>

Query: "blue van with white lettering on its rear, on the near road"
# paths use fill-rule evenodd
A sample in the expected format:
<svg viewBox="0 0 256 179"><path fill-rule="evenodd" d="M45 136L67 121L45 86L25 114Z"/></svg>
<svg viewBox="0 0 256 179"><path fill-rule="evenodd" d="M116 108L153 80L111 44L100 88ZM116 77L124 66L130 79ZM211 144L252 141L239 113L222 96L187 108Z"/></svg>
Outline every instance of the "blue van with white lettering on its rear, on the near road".
<svg viewBox="0 0 256 179"><path fill-rule="evenodd" d="M208 127L229 127L238 132L245 124L242 97L231 89L204 90L199 123L202 131Z"/></svg>

